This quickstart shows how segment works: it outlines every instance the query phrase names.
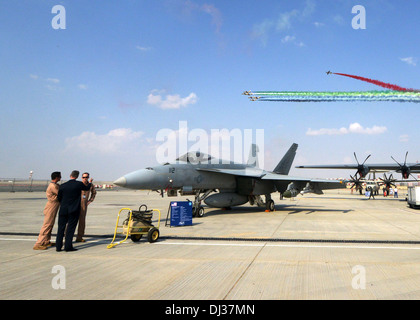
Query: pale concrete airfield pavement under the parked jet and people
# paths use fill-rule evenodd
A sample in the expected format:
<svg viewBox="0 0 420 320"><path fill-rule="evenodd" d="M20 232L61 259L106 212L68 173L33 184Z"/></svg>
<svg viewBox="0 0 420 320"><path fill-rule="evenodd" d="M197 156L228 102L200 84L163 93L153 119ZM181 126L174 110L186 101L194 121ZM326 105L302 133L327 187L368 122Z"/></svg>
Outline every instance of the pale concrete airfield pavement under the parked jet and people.
<svg viewBox="0 0 420 320"><path fill-rule="evenodd" d="M0 193L0 299L420 298L420 210L404 199L367 200L349 190L276 195L274 212L206 207L193 226L166 227L169 202L186 198L193 199L98 192L87 242L56 252L32 249L45 193ZM118 211L143 203L161 211L158 241L107 249Z"/></svg>

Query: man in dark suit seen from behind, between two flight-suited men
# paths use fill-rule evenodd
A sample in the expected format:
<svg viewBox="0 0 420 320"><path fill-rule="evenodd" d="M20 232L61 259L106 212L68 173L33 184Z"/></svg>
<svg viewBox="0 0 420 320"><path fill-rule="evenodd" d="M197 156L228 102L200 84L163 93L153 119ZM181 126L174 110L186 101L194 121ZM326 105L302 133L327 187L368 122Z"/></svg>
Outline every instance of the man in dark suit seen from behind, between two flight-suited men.
<svg viewBox="0 0 420 320"><path fill-rule="evenodd" d="M57 251L61 251L63 247L64 233L66 233L64 250L77 250L73 248L73 236L79 221L81 192L82 190L89 190L93 181L93 179L90 179L90 183L85 185L76 180L78 177L79 171L72 171L70 180L63 183L58 191L57 199L60 202L60 211L58 213L58 231L55 242Z"/></svg>

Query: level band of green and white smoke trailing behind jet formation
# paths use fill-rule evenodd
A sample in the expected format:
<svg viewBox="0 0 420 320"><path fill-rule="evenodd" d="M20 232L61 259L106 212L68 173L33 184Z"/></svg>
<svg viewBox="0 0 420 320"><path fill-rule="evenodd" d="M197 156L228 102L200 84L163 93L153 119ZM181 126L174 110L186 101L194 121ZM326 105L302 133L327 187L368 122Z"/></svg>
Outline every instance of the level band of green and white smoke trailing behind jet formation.
<svg viewBox="0 0 420 320"><path fill-rule="evenodd" d="M255 91L252 100L282 102L420 102L420 92L411 91Z"/></svg>

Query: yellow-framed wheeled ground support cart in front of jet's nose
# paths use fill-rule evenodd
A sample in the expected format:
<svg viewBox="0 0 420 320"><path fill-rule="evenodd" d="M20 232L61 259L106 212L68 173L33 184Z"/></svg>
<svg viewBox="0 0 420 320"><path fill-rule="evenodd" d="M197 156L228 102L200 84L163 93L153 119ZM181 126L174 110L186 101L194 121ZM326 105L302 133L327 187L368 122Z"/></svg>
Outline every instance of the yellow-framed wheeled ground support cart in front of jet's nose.
<svg viewBox="0 0 420 320"><path fill-rule="evenodd" d="M127 219L124 220L122 225L119 225L121 212L123 211L128 211ZM153 211L159 212L157 227L152 224ZM147 240L150 243L155 242L159 239L159 226L160 210L158 209L147 210L147 206L145 204L142 204L138 211L133 211L130 208L122 208L118 212L114 238L112 239L112 242L107 246L107 248L111 249L116 245L123 243L128 239L128 236L130 236L133 242L138 242L143 235L147 235ZM119 229L120 232L118 232ZM114 243L117 234L125 235L125 239Z"/></svg>

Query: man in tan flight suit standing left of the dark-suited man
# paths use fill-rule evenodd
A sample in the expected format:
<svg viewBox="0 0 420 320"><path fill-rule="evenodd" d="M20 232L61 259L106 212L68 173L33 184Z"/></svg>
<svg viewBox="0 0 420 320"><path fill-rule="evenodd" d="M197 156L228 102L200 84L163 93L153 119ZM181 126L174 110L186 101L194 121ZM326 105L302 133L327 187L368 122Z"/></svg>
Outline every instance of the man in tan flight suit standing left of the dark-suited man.
<svg viewBox="0 0 420 320"><path fill-rule="evenodd" d="M61 173L55 171L51 174L51 182L48 185L46 194L47 194L47 204L44 208L44 223L39 232L38 240L35 243L34 250L45 250L48 247L54 245L50 242L51 232L54 227L55 217L57 216L58 208L60 203L57 200L59 185L58 181L61 180Z"/></svg>

